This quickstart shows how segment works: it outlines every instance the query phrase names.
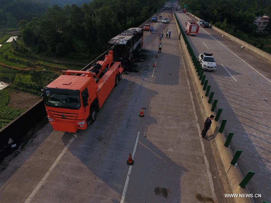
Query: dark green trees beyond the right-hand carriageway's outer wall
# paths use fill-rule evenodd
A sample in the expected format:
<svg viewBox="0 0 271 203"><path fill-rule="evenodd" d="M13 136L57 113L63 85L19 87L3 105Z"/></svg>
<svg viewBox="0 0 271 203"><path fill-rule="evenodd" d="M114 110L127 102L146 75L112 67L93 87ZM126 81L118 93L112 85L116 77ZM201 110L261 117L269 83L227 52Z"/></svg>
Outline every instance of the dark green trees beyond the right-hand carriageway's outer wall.
<svg viewBox="0 0 271 203"><path fill-rule="evenodd" d="M253 24L255 16L271 14L270 0L180 0L179 5L188 5L195 16L271 54L271 20L262 33Z"/></svg>

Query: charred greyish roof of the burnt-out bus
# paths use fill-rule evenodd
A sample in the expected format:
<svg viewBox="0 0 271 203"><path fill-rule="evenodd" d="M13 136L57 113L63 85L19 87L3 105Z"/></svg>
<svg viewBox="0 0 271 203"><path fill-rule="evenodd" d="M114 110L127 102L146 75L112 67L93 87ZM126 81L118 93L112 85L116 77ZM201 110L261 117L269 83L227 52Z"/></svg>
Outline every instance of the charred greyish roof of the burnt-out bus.
<svg viewBox="0 0 271 203"><path fill-rule="evenodd" d="M116 37L109 40L109 44L126 44L126 42L131 39L137 33L142 32L142 28L133 27L129 28L126 31L122 32L121 34L117 35Z"/></svg>

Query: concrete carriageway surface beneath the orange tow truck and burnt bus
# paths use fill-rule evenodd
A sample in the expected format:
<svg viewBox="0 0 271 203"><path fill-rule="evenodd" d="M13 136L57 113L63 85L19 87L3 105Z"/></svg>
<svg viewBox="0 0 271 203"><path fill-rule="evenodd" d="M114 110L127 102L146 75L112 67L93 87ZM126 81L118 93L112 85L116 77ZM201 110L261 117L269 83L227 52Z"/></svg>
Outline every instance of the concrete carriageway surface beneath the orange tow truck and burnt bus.
<svg viewBox="0 0 271 203"><path fill-rule="evenodd" d="M175 25L158 58L164 25L153 25L139 72L123 74L94 124L70 134L45 119L2 162L1 202L225 202Z"/></svg>

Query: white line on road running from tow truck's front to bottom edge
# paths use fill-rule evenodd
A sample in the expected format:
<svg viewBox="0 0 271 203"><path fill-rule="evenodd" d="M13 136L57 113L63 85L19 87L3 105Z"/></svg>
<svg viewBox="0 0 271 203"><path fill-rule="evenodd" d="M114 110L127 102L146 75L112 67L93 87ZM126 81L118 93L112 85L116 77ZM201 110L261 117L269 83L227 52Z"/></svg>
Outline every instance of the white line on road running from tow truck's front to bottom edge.
<svg viewBox="0 0 271 203"><path fill-rule="evenodd" d="M76 136L76 134L74 136ZM26 201L24 203L28 203L28 202L30 202L32 200L32 198L38 192L38 190L40 189L40 187L42 186L42 184L45 182L45 180L48 178L48 176L54 170L55 166L58 164L59 160L62 158L62 156L64 155L64 153L70 147L71 143L73 143L74 139L75 139L75 137L72 137L70 139L70 142L67 144L67 146L65 146L65 148L62 150L62 152L60 153L60 155L58 155L58 158L55 160L55 162L53 163L53 165L51 165L51 167L49 168L49 170L47 171L47 173L43 176L42 180L39 181L39 184L36 186L36 188L33 190L33 192L29 195L29 197L26 199Z"/></svg>

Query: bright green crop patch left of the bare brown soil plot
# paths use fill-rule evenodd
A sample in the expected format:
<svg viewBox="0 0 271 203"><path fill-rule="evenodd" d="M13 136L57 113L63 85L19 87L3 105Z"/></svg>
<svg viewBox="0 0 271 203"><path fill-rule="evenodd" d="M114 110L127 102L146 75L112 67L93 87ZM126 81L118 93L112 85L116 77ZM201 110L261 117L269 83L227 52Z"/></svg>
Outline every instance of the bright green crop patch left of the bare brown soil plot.
<svg viewBox="0 0 271 203"><path fill-rule="evenodd" d="M5 90L0 90L0 129L25 111L25 109L14 109L8 107L9 101L10 97L8 92Z"/></svg>

